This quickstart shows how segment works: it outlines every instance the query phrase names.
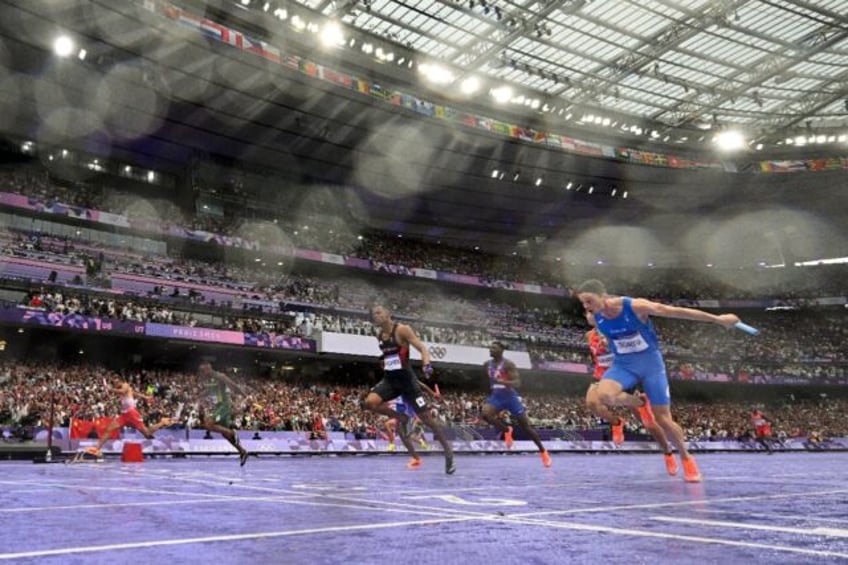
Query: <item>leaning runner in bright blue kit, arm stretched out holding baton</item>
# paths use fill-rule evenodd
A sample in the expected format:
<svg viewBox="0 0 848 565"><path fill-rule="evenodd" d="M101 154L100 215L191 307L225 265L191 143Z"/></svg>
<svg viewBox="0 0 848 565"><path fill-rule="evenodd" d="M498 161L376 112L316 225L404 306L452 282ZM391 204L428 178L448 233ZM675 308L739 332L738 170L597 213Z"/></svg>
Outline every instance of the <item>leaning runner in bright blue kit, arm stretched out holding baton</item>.
<svg viewBox="0 0 848 565"><path fill-rule="evenodd" d="M586 311L595 317L598 331L607 338L615 354L612 365L598 383L598 398L607 406L642 407L642 414L653 415L680 454L684 480L701 482L698 465L686 449L683 430L671 417L668 376L650 317L712 322L725 328L733 327L739 317L735 314L716 316L644 298L611 296L604 284L595 279L581 284L576 294ZM636 395L625 392L636 385L642 385L645 392Z"/></svg>

